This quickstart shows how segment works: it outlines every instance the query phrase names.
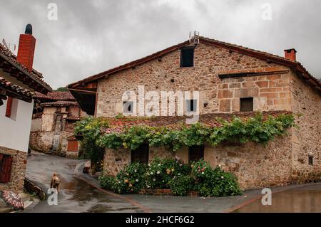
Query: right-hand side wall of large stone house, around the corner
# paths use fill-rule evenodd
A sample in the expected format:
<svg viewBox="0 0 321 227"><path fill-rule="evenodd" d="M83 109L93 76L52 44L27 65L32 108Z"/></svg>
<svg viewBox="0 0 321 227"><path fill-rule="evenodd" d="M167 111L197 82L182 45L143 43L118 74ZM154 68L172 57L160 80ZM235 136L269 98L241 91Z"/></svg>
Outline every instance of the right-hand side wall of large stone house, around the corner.
<svg viewBox="0 0 321 227"><path fill-rule="evenodd" d="M321 179L321 97L291 76L292 111L298 129L292 129L292 181L305 182ZM308 158L313 158L313 165Z"/></svg>

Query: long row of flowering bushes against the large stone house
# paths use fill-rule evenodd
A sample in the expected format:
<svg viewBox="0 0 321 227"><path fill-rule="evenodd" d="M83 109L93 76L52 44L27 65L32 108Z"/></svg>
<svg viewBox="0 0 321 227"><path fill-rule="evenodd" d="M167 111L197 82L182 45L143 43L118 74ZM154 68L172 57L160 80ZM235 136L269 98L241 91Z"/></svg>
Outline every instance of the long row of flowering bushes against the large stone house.
<svg viewBox="0 0 321 227"><path fill-rule="evenodd" d="M138 193L141 189L171 189L177 196L198 191L200 196L235 196L241 194L236 177L220 167L212 169L204 160L183 164L176 159L154 159L146 165L129 164L116 178L99 177L104 189L118 194Z"/></svg>

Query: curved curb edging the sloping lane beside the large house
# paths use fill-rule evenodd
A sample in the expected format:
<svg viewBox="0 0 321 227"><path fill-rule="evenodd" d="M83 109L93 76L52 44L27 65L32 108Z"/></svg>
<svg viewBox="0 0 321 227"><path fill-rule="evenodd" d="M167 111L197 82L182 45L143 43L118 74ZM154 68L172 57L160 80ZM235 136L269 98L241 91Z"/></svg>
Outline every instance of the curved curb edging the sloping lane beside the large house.
<svg viewBox="0 0 321 227"><path fill-rule="evenodd" d="M118 194L115 194L113 193L112 191L107 191L105 189L102 189L100 186L97 186L97 183L96 180L93 180L93 179L88 179L88 177L84 177L83 174L81 174L79 172L79 168L84 164L83 163L79 163L76 165L76 168L74 170L74 176L77 177L78 179L81 179L82 181L85 181L87 184L93 186L94 188L98 189L99 191L103 192L104 194L108 194L108 196L113 196L115 198L118 198L118 199L122 199L126 202L128 202L129 204L133 205L133 206L137 206L138 208L140 208L143 213L152 213L151 209L146 207L146 206L143 206L141 204L139 204L137 201L133 200L133 199L130 199L130 198L127 198L125 196L121 196L121 195L118 195Z"/></svg>

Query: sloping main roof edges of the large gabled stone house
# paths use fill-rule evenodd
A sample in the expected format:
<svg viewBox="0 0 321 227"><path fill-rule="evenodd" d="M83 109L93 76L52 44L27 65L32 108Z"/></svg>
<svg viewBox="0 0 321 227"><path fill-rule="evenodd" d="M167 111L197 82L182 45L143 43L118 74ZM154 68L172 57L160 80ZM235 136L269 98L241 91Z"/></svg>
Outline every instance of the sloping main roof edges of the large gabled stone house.
<svg viewBox="0 0 321 227"><path fill-rule="evenodd" d="M319 80L317 80L317 78L313 77L304 67L301 63L299 63L296 60L290 60L287 58L283 58L280 56L276 56L273 55L271 53L267 53L267 52L263 52L263 51L257 51L254 50L252 48L246 48L243 46L238 46L232 43L225 43L222 41L217 41L215 39L211 39L211 38L205 38L200 36L199 37L200 43L209 45L209 46L217 46L220 48L225 48L228 49L230 51L235 51L236 53L243 53L245 55L248 56L253 56L255 58L260 58L263 60L271 60L275 63L278 63L280 65L285 65L288 66L290 68L294 68L298 73L302 73L302 80L305 80L305 82L307 82L308 85L310 85L310 87L312 87L313 89L318 90L318 92L321 94L321 83ZM175 51L179 48L182 48L183 46L187 46L189 45L190 42L189 41L185 41L183 43L178 43L175 46L170 46L169 48L165 48L163 51L158 51L156 53L153 53L149 56L146 56L144 58L140 58L138 60L133 60L130 63L126 63L123 65L119 65L116 68L111 68L110 70L106 70L102 73L98 73L96 75L92 75L88 78L85 78L83 80L79 80L78 82L75 83L71 83L70 85L68 85L68 88L74 88L77 87L78 85L81 84L86 84L86 83L90 83L92 81L98 80L100 78L105 78L108 75L111 75L113 73L117 73L118 71L121 70L126 70L128 68L133 68L136 65L141 65L143 63L148 62L149 60L153 60L156 58L161 58L163 55L170 53L172 51Z"/></svg>

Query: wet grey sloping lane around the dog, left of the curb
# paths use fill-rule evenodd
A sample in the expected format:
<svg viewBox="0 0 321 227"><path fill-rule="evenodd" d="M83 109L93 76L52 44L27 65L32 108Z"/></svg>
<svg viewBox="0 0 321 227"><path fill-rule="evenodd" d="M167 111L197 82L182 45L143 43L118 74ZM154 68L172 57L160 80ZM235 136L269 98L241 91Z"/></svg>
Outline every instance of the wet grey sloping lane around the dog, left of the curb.
<svg viewBox="0 0 321 227"><path fill-rule="evenodd" d="M51 174L56 171L61 178L61 191L58 205L41 201L26 209L25 212L140 212L128 202L104 194L81 179L73 176L73 169L79 160L48 157L34 154L29 160L26 176L48 189Z"/></svg>

